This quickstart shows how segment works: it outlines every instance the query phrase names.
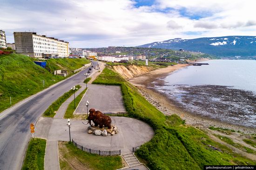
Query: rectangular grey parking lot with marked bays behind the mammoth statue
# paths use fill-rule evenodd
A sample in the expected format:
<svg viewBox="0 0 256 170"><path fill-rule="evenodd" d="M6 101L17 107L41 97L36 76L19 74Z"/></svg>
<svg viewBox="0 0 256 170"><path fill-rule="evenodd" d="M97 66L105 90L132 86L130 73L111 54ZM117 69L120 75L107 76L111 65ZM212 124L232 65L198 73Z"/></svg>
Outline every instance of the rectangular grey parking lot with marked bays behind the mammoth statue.
<svg viewBox="0 0 256 170"><path fill-rule="evenodd" d="M74 114L86 114L86 102L89 107L103 113L123 113L126 112L123 104L121 88L117 85L88 85L88 91L81 100Z"/></svg>

